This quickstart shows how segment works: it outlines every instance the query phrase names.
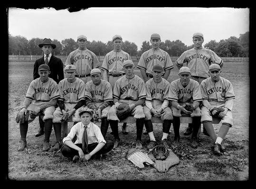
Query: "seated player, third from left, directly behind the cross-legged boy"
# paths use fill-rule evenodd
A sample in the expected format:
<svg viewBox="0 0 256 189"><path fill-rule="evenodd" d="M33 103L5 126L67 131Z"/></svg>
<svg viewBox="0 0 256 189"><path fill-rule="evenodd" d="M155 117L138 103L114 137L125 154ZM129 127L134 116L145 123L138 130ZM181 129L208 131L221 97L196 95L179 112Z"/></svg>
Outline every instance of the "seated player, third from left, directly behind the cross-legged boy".
<svg viewBox="0 0 256 189"><path fill-rule="evenodd" d="M91 77L92 80L85 84L86 106L101 120L101 133L105 137L109 125L107 114L113 103L112 88L108 81L101 79L100 69L92 69Z"/></svg>

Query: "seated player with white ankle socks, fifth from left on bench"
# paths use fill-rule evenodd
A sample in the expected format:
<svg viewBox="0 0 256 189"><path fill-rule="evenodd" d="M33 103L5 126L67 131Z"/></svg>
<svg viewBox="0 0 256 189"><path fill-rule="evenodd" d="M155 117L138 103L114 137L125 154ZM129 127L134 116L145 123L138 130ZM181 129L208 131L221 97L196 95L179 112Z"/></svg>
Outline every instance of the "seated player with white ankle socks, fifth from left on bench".
<svg viewBox="0 0 256 189"><path fill-rule="evenodd" d="M163 136L161 143L167 148L170 148L170 146L167 144L167 137L171 128L171 121L173 119L171 108L168 107L170 83L161 77L162 73L163 68L161 66L153 66L153 78L149 79L145 83L147 97L145 99L143 111L145 114L144 124L150 137L150 143L147 146L149 149L152 149L157 145L153 133L153 124L151 121L152 114L155 117L161 117L161 120L163 120Z"/></svg>

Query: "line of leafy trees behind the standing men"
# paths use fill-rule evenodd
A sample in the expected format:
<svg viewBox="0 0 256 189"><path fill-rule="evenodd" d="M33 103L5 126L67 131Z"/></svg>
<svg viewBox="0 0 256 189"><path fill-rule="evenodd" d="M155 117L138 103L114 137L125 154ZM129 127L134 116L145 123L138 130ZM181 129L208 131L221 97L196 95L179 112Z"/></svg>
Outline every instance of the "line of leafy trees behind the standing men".
<svg viewBox="0 0 256 189"><path fill-rule="evenodd" d="M42 43L43 39L32 38L27 40L23 36L12 36L9 34L9 55L40 55L42 54L41 48L38 47L39 43ZM192 38L191 38L192 42ZM59 42L53 39L53 43L56 44L56 48L53 50L55 55L68 55L70 52L76 50L78 45L72 38L64 39ZM165 40L161 42L160 48L169 53L170 56L180 56L182 52L192 49L193 44L190 46L185 45L180 40L170 41ZM203 43L205 48L209 48L216 52L220 57L248 57L249 56L249 32L240 34L240 37L231 36L228 39L222 39L219 42L211 40L209 43ZM94 52L98 56L104 56L106 53L113 50L112 41L103 43L101 41L88 41L87 48ZM144 41L141 49L138 51L138 47L135 43L124 41L122 49L128 52L131 56L141 56L143 52L151 49L151 43Z"/></svg>

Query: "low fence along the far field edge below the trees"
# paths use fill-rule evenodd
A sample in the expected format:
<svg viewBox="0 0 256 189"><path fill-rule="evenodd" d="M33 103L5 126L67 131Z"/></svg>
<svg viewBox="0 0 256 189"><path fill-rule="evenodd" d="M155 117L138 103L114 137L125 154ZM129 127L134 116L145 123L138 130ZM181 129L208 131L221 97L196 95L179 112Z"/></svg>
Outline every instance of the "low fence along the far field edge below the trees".
<svg viewBox="0 0 256 189"><path fill-rule="evenodd" d="M41 58L42 55L9 55L9 61L36 61ZM66 61L66 55L57 55L58 58L62 60L63 63ZM97 56L98 60L102 63L104 60L104 56ZM249 57L220 57L224 62L248 62ZM138 62L140 60L140 56L132 56L132 60L134 62ZM175 62L177 57L171 57L171 61Z"/></svg>

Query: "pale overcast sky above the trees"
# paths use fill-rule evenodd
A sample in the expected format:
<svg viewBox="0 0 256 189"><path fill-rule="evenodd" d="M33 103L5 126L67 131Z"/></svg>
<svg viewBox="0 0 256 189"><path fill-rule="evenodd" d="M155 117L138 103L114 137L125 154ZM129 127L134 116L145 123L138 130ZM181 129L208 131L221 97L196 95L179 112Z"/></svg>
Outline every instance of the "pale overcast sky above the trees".
<svg viewBox="0 0 256 189"><path fill-rule="evenodd" d="M115 34L133 42L140 50L143 41L158 33L161 41L180 40L191 45L192 34L204 34L204 44L219 42L249 31L247 8L90 8L78 12L67 9L9 9L9 33L31 38L62 41L85 34L88 41L107 43Z"/></svg>

